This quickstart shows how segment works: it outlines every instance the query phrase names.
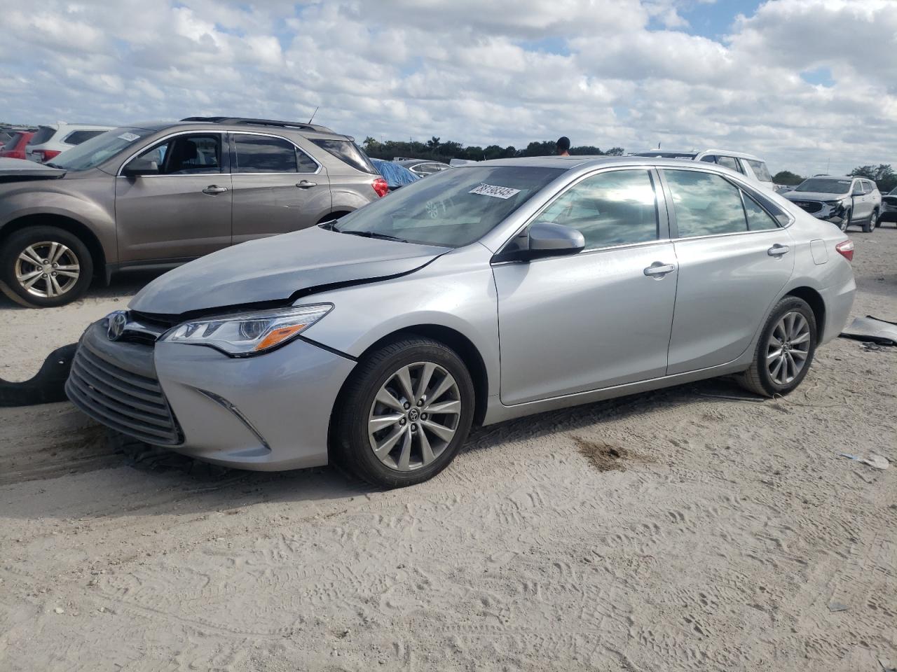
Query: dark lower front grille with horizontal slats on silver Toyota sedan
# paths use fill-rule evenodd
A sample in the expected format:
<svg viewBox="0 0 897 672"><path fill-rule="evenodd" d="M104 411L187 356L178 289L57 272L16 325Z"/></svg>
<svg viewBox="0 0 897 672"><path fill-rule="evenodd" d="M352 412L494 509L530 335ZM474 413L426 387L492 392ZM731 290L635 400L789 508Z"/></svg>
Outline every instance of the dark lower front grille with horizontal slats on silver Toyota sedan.
<svg viewBox="0 0 897 672"><path fill-rule="evenodd" d="M156 445L177 445L180 433L159 382L116 366L82 340L65 392L103 425Z"/></svg>

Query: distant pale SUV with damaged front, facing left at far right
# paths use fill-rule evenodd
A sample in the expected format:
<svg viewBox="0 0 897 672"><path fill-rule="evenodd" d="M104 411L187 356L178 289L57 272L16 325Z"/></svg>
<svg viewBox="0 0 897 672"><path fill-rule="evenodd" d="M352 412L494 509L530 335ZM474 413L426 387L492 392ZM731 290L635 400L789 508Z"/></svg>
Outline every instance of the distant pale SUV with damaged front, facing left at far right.
<svg viewBox="0 0 897 672"><path fill-rule="evenodd" d="M817 220L831 221L846 231L858 224L870 233L882 211L882 194L865 177L817 175L808 177L793 192L781 194Z"/></svg>

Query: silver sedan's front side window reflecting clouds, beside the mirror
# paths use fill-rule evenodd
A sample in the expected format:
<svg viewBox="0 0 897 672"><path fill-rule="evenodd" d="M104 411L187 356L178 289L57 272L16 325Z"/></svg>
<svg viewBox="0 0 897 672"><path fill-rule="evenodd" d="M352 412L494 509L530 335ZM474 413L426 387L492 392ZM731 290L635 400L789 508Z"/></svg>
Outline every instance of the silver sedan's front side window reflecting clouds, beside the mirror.
<svg viewBox="0 0 897 672"><path fill-rule="evenodd" d="M658 206L647 170L587 177L558 196L536 221L579 230L586 249L658 239Z"/></svg>

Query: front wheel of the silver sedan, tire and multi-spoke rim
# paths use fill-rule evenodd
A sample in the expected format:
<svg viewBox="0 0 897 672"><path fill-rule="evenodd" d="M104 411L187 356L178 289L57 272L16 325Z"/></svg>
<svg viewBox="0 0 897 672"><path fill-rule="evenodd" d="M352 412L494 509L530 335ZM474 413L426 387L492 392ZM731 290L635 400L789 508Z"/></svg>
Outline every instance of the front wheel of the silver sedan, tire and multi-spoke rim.
<svg viewBox="0 0 897 672"><path fill-rule="evenodd" d="M420 390L424 378L428 384ZM470 373L454 350L436 340L400 337L363 358L341 392L331 430L334 461L378 487L422 483L444 470L466 441L474 395ZM448 412L428 414L428 408ZM369 434L371 427L377 428Z"/></svg>

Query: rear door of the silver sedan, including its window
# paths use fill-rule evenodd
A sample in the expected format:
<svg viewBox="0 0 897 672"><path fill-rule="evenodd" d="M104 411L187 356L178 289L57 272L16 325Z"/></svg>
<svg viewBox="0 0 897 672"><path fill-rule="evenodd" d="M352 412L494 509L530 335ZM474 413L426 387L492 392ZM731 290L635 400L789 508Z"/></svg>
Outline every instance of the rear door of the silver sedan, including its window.
<svg viewBox="0 0 897 672"><path fill-rule="evenodd" d="M748 348L791 277L794 243L777 206L726 177L661 171L679 263L667 375L726 364Z"/></svg>

